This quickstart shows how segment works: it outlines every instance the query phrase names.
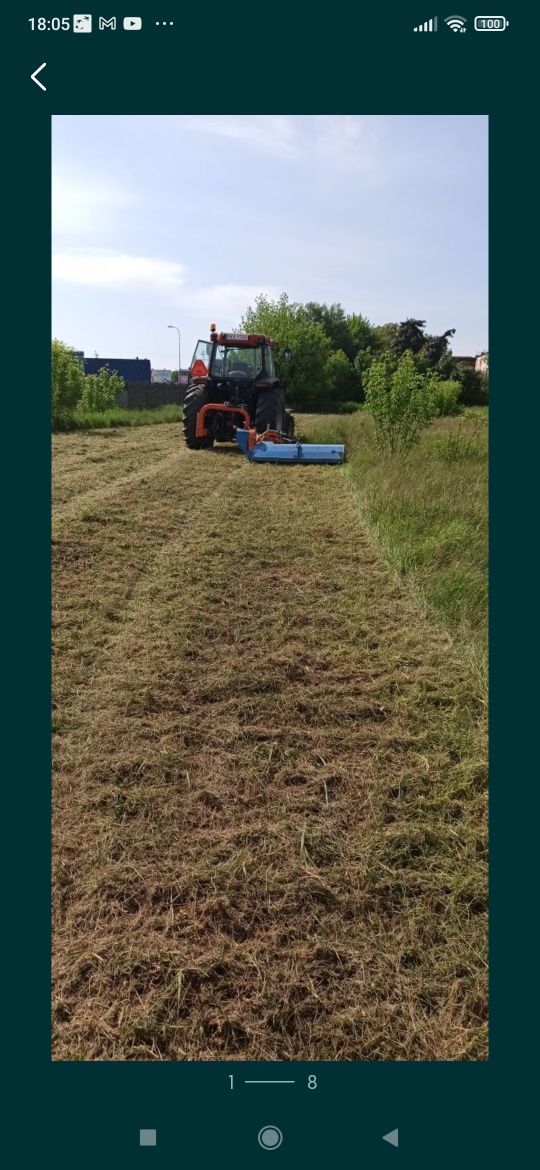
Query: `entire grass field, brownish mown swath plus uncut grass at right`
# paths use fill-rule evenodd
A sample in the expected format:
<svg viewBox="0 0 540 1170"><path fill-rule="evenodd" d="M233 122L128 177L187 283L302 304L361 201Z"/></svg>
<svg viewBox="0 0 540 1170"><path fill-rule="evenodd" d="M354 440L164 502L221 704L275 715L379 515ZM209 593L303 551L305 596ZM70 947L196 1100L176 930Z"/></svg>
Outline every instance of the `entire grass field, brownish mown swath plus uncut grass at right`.
<svg viewBox="0 0 540 1170"><path fill-rule="evenodd" d="M477 424L338 425L344 470L54 438L55 1059L486 1057Z"/></svg>

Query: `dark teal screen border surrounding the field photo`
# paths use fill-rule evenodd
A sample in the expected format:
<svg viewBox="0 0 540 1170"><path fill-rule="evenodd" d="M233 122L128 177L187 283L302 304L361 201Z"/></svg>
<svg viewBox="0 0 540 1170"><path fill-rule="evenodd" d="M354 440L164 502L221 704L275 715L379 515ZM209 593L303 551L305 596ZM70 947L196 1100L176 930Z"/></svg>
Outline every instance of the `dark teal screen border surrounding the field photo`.
<svg viewBox="0 0 540 1170"><path fill-rule="evenodd" d="M536 970L532 954L538 775L538 339L533 328L538 201L531 117L539 20L466 35L413 34L429 5L365 11L291 5L264 12L160 9L141 33L30 33L4 23L4 1065L9 1166L521 1166L534 1152ZM113 9L115 11L115 9ZM127 9L130 11L130 9ZM480 13L493 9L479 8ZM531 9L529 9L531 11ZM95 20L98 11L94 11ZM110 14L106 8L102 14ZM119 15L117 13L117 15ZM173 19L161 32L154 19ZM258 44L259 67L215 71L222 36ZM208 64L207 64L208 60ZM43 94L29 80L40 77ZM51 1064L49 1059L49 343L51 113L490 113L491 153L491 1057L486 1064L252 1066ZM189 181L189 176L187 176ZM254 193L256 198L256 193ZM459 232L458 216L456 233ZM538 300L538 294L536 294ZM535 378L536 374L536 378ZM528 674L527 674L528 672ZM531 729L533 735L531 735ZM528 870L528 872L527 872ZM538 915L536 915L538 917ZM229 1089L229 1073L295 1087ZM307 1074L318 1089L309 1092ZM5 1096L6 1100L6 1096ZM283 1147L257 1145L263 1124ZM139 1149L139 1128L158 1148ZM381 1135L400 1128L400 1149ZM528 1148L528 1152L527 1152Z"/></svg>

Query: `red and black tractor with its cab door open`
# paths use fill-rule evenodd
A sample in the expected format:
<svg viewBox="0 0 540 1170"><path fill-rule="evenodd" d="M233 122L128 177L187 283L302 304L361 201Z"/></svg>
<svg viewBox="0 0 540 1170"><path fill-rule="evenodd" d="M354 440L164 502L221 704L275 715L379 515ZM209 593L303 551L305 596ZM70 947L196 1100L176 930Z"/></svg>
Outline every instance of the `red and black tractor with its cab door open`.
<svg viewBox="0 0 540 1170"><path fill-rule="evenodd" d="M277 342L263 333L216 332L199 340L184 399L184 435L195 450L234 442L237 432L291 441L295 420L283 402L274 353ZM290 350L283 358L290 359Z"/></svg>

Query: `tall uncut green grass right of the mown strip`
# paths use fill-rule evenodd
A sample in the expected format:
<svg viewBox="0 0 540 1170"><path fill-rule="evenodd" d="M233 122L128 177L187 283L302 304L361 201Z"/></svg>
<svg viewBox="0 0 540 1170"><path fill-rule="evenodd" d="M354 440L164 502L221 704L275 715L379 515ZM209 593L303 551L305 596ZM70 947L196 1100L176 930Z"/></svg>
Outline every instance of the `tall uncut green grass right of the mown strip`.
<svg viewBox="0 0 540 1170"><path fill-rule="evenodd" d="M416 447L393 456L378 448L365 411L297 422L306 439L347 445L345 474L388 559L485 661L487 410L437 419Z"/></svg>

